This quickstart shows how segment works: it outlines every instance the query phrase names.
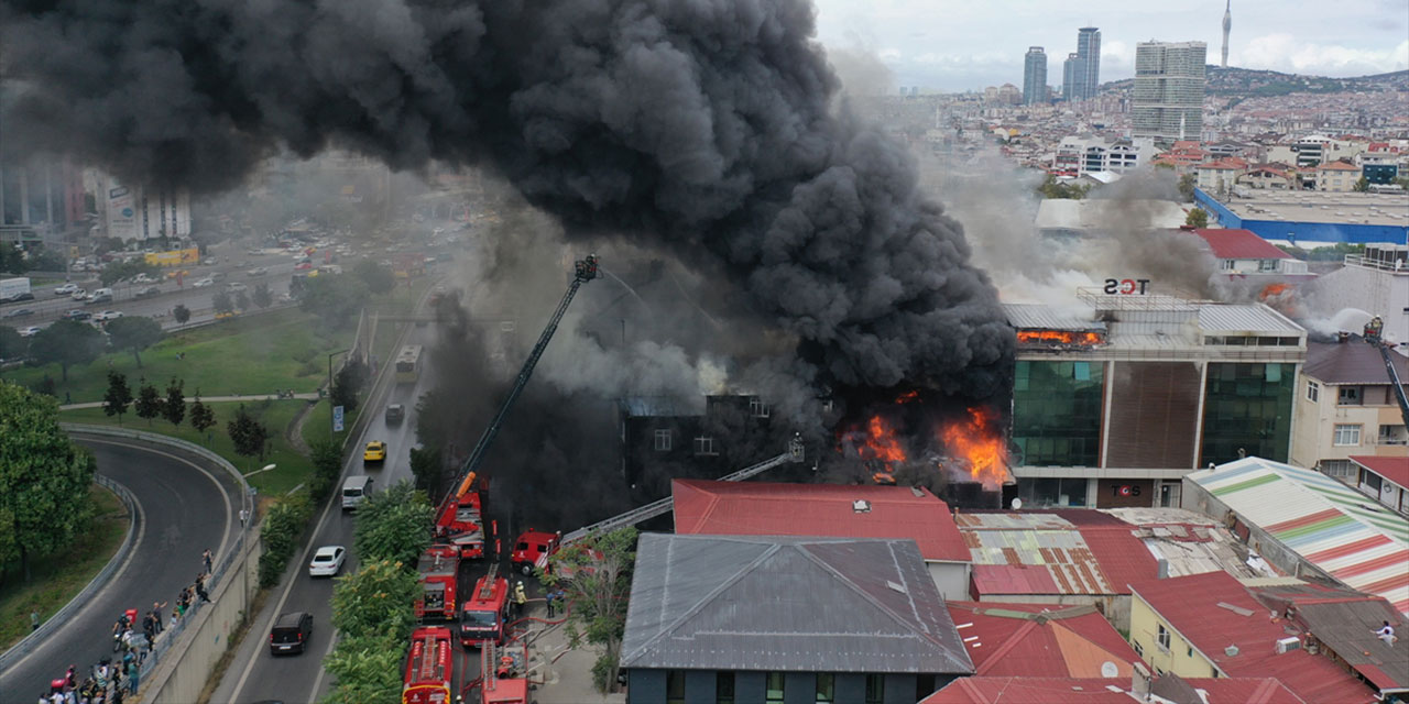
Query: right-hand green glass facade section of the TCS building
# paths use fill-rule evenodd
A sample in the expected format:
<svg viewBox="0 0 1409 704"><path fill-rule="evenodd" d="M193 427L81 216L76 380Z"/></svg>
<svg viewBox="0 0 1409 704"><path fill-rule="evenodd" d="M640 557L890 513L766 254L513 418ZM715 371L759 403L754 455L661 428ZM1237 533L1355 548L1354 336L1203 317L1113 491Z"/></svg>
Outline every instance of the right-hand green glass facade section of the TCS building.
<svg viewBox="0 0 1409 704"><path fill-rule="evenodd" d="M1292 436L1293 363L1209 363L1199 466L1239 459L1239 451L1286 462Z"/></svg>

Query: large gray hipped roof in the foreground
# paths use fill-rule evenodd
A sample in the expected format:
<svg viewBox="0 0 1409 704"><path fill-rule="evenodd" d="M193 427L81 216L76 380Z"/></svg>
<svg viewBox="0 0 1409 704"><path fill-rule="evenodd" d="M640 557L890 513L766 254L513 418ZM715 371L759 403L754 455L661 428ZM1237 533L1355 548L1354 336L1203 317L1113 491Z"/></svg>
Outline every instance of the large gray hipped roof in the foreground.
<svg viewBox="0 0 1409 704"><path fill-rule="evenodd" d="M637 546L621 666L974 672L914 541L671 534Z"/></svg>

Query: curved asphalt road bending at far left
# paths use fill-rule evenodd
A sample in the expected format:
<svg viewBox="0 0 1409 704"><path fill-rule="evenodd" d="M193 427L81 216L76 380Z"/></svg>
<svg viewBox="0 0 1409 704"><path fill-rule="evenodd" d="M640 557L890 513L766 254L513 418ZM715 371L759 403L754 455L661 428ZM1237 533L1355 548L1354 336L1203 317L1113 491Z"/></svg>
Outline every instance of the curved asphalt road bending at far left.
<svg viewBox="0 0 1409 704"><path fill-rule="evenodd" d="M0 701L34 701L69 665L86 672L111 656L113 622L127 608L145 615L152 601L168 601L169 618L176 594L201 569L201 551L213 551L218 565L240 531L240 486L228 473L206 470L180 451L135 441L79 435L75 441L97 456L99 473L137 497L137 542L93 603L0 672Z"/></svg>

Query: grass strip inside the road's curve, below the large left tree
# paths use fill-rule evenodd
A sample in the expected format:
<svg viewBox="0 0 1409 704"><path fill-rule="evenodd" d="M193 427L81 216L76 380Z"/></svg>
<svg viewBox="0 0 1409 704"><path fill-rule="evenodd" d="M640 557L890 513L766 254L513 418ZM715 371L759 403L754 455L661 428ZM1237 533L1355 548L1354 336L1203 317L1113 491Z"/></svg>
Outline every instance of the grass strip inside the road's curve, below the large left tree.
<svg viewBox="0 0 1409 704"><path fill-rule="evenodd" d="M79 531L73 546L59 555L30 563L28 584L21 583L20 565L7 565L0 584L0 650L30 632L30 612L48 621L107 565L127 535L127 507L117 494L93 484L89 501L94 507L87 529Z"/></svg>

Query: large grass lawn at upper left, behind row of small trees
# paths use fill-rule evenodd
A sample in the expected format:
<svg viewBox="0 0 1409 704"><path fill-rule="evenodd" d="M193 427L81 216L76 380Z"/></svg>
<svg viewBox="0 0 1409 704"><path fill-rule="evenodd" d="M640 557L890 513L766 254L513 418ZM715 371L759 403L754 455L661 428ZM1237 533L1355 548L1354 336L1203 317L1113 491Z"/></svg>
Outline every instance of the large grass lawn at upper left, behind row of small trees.
<svg viewBox="0 0 1409 704"><path fill-rule="evenodd" d="M45 375L55 380L61 403L101 401L107 370L127 375L137 393L138 379L147 377L165 390L172 379L186 382L186 396L269 394L276 389L313 391L327 379L330 352L345 346L347 332L325 332L313 315L283 310L265 315L234 318L176 332L142 352L142 369L131 352L110 352L96 362L69 367L62 382L59 365L21 367L6 379L34 389ZM185 359L176 359L185 353Z"/></svg>

